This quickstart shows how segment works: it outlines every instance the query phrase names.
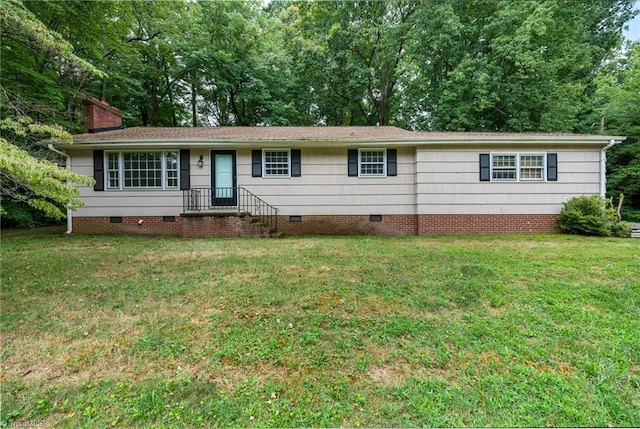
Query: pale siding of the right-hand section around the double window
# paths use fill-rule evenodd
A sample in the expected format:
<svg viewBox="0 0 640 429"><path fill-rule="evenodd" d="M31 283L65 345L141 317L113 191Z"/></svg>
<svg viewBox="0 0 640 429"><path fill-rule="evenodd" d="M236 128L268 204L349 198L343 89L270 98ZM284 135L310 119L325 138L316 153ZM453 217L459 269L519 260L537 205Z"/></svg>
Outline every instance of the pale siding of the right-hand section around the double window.
<svg viewBox="0 0 640 429"><path fill-rule="evenodd" d="M558 181L481 182L479 154L490 152L557 153ZM564 201L600 186L597 149L419 148L416 159L419 214L556 214Z"/></svg>

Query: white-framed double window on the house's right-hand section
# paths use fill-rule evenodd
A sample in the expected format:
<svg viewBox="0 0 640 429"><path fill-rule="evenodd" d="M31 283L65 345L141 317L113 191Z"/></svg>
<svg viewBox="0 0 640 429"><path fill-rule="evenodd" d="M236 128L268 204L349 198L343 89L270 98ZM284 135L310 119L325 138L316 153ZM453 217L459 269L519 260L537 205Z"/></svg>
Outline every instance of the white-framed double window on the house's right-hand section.
<svg viewBox="0 0 640 429"><path fill-rule="evenodd" d="M544 181L545 159L542 153L492 153L491 180L494 182Z"/></svg>

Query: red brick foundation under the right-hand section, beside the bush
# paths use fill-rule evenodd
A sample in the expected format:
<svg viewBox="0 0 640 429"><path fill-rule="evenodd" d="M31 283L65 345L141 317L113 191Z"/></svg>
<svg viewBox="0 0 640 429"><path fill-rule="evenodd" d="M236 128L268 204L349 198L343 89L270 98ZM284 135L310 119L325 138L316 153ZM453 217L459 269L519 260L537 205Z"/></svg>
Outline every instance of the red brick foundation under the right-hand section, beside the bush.
<svg viewBox="0 0 640 429"><path fill-rule="evenodd" d="M559 233L556 215L419 215L418 234Z"/></svg>

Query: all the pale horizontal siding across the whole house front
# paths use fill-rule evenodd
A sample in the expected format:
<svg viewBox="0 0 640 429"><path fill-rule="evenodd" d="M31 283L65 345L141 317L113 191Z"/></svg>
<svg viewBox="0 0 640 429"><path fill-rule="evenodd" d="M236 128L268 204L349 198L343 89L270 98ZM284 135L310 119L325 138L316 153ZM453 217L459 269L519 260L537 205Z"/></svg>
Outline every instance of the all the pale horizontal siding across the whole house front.
<svg viewBox="0 0 640 429"><path fill-rule="evenodd" d="M270 146L265 144L264 148ZM273 147L287 147L282 142ZM363 146L364 147L364 146ZM216 150L232 149L216 147ZM558 154L557 182L480 182L479 154L537 152ZM70 150L72 169L93 175L93 154ZM203 167L198 167L202 155ZM598 148L461 149L400 147L394 177L347 175L347 148L301 149L302 176L264 178L251 175L251 149L237 150L237 184L282 215L348 214L556 214L562 203L598 194ZM211 150L191 149L191 187L211 187ZM78 216L175 216L182 212L180 190L106 190L80 186L85 206Z"/></svg>

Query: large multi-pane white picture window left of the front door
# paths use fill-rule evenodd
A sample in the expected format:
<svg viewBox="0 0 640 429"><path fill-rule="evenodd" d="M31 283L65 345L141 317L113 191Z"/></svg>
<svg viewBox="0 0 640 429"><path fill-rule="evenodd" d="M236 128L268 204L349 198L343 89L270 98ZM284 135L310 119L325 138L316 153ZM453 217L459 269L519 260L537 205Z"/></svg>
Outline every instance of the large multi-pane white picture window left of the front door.
<svg viewBox="0 0 640 429"><path fill-rule="evenodd" d="M178 189L178 151L107 152L107 189Z"/></svg>

